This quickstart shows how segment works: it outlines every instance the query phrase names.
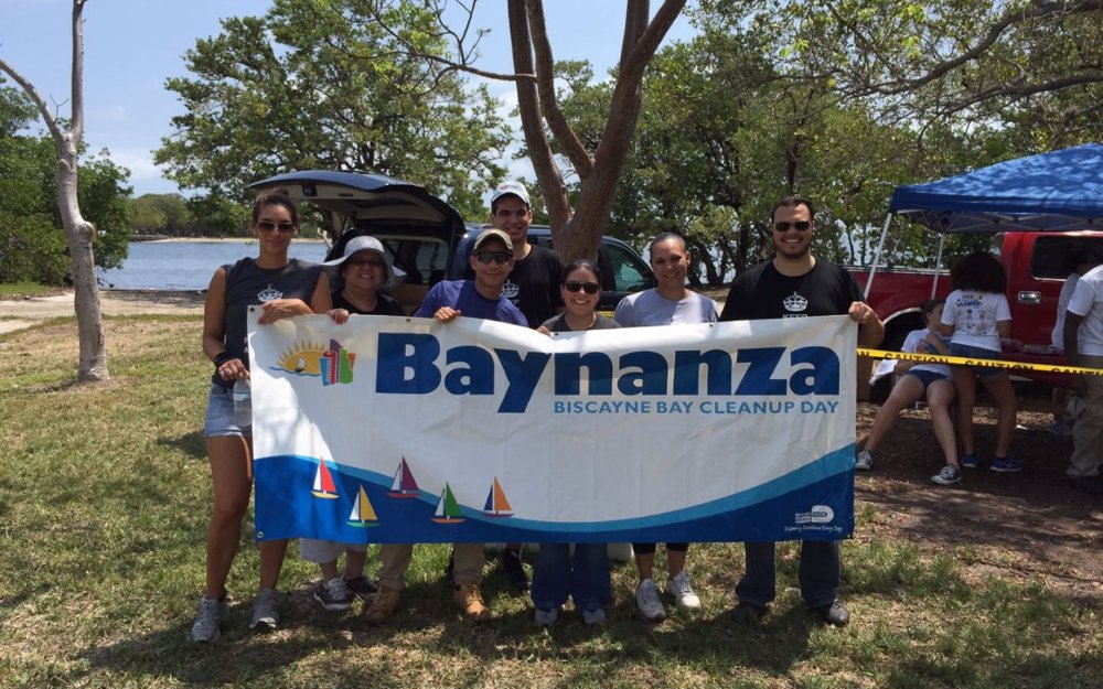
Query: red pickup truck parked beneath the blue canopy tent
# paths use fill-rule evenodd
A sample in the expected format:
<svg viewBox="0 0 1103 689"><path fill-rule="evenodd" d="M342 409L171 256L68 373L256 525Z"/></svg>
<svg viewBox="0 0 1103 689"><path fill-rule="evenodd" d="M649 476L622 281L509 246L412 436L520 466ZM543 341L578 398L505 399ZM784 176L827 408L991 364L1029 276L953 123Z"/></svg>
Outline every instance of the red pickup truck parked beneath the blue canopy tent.
<svg viewBox="0 0 1103 689"><path fill-rule="evenodd" d="M1090 249L1103 257L1103 232L1015 232L997 235L993 252L1007 272L1007 301L1011 305L1011 336L1022 343L1021 352L1006 352L1008 358L1045 364L1064 363L1053 353L1050 340L1057 321L1057 300L1069 273L1065 259L1074 249ZM865 289L868 268L850 272ZM885 321L882 349L899 349L904 336L923 327L920 304L931 298L934 270L880 268L874 274L867 301ZM938 271L934 295L951 292L950 271ZM1060 385L1054 376L1029 376Z"/></svg>

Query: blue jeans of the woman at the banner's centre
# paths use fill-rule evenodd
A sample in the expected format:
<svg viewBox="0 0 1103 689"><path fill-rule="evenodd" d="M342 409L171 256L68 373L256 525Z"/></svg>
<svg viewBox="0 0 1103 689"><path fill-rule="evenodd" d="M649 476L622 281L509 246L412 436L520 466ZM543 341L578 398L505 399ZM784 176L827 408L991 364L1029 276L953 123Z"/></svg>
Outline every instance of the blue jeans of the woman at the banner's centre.
<svg viewBox="0 0 1103 689"><path fill-rule="evenodd" d="M612 600L609 550L606 543L540 543L533 566L533 605L559 609L567 595L578 610L600 610Z"/></svg>

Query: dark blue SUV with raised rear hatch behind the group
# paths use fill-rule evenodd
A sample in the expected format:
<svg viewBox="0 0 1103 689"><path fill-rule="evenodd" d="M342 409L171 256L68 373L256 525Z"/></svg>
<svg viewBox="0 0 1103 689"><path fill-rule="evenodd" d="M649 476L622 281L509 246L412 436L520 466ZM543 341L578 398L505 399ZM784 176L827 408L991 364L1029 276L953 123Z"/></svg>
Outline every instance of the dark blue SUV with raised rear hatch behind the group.
<svg viewBox="0 0 1103 689"><path fill-rule="evenodd" d="M416 308L440 280L459 280L468 268L471 245L484 225L463 223L459 212L425 189L381 174L311 170L280 174L249 185L254 191L282 186L299 202L333 213L344 232L326 260L340 256L352 237L377 237L406 279L393 292L407 309ZM533 226L528 240L552 246L552 230ZM627 294L655 286L651 268L632 247L602 237L598 266L603 274L598 309L611 312Z"/></svg>

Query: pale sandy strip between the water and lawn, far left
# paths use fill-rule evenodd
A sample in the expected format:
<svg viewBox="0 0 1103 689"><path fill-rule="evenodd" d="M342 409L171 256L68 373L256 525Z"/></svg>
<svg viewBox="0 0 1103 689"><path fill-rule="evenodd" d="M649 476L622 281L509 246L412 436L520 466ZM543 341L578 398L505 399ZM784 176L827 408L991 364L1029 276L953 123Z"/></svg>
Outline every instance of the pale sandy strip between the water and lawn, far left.
<svg viewBox="0 0 1103 689"><path fill-rule="evenodd" d="M75 315L73 292L50 297L0 299L0 333L31 327L49 319ZM197 291L100 290L104 315L167 313L202 315L205 294Z"/></svg>

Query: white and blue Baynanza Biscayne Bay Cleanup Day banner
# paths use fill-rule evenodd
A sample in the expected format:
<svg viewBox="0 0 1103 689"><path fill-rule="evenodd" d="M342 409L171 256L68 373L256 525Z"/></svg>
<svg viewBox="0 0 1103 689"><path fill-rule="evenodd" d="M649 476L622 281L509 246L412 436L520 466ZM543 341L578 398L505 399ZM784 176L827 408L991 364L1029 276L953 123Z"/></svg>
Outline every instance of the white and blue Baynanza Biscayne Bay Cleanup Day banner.
<svg viewBox="0 0 1103 689"><path fill-rule="evenodd" d="M839 540L846 316L553 337L491 321L249 316L260 539Z"/></svg>

